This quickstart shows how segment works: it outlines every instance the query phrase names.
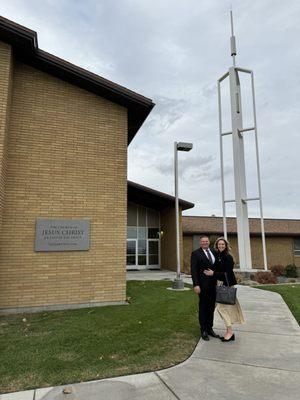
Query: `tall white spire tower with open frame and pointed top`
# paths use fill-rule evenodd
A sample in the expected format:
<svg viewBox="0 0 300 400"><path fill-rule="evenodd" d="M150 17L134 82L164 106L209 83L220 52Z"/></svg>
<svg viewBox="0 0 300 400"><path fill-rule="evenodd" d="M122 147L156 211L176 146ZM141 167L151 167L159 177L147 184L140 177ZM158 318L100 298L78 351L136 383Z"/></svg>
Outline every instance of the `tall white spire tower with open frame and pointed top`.
<svg viewBox="0 0 300 400"><path fill-rule="evenodd" d="M232 10L230 10L230 25L231 25L230 50L231 50L233 66L230 67L229 70L224 75L222 75L221 78L218 79L223 230L224 230L224 236L225 238L227 238L226 204L235 203L240 269L241 271L251 271L252 259L251 259L251 246L250 246L248 202L258 201L260 209L260 220L261 220L263 262L264 262L264 269L267 270L266 244L265 244L264 219L263 219L263 207L262 207L262 195L261 195L260 163L259 163L258 140L257 140L254 77L253 77L253 71L236 66L237 52L236 52L236 40L233 30ZM241 84L239 78L241 73L250 75L251 88L252 88L253 126L246 128L243 127ZM223 132L221 83L227 78L229 78L229 85L230 85L231 131ZM251 134L251 132L254 133L255 135L258 194L257 197L249 198L247 196L247 185L246 185L244 135ZM234 170L234 188L235 188L234 199L225 198L223 137L227 135L231 136L232 146L233 146L233 170Z"/></svg>

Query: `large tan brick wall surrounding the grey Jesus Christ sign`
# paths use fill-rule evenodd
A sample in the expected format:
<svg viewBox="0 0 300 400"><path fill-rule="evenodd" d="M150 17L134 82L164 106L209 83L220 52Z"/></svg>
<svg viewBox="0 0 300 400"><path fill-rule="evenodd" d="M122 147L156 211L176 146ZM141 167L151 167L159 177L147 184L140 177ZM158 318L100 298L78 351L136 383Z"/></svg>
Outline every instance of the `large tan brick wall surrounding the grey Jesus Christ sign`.
<svg viewBox="0 0 300 400"><path fill-rule="evenodd" d="M127 110L19 62L13 76L0 308L124 300ZM90 250L34 252L38 217L91 219Z"/></svg>

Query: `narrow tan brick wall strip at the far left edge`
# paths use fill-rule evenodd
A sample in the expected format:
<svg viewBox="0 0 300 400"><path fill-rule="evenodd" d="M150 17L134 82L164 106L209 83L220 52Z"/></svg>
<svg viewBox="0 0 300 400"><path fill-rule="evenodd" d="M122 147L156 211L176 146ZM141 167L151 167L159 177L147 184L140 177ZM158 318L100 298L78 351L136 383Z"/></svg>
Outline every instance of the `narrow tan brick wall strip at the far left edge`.
<svg viewBox="0 0 300 400"><path fill-rule="evenodd" d="M0 232L7 172L7 138L11 106L12 49L0 42Z"/></svg>

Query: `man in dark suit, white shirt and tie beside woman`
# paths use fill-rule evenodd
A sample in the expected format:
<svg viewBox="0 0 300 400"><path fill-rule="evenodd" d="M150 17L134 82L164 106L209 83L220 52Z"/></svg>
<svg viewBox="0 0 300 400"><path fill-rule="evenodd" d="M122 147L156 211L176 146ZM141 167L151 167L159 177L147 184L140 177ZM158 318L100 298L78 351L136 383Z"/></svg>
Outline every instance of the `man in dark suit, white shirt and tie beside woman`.
<svg viewBox="0 0 300 400"><path fill-rule="evenodd" d="M216 303L216 278L206 276L204 270L214 270L215 255L209 248L207 236L200 238L200 248L192 252L191 273L194 291L199 295L199 324L201 337L209 340L208 335L219 337L213 331L214 311Z"/></svg>

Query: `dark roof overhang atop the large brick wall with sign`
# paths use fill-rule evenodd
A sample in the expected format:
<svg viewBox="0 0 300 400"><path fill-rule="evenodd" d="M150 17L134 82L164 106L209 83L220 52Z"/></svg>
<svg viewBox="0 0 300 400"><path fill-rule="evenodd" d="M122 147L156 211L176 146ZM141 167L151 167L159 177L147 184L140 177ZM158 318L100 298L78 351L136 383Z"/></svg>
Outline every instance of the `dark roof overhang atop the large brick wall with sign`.
<svg viewBox="0 0 300 400"><path fill-rule="evenodd" d="M128 110L128 144L154 107L151 99L38 48L37 33L0 17L0 40L20 61L117 103Z"/></svg>

